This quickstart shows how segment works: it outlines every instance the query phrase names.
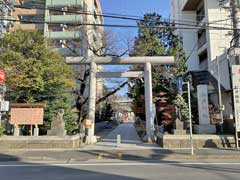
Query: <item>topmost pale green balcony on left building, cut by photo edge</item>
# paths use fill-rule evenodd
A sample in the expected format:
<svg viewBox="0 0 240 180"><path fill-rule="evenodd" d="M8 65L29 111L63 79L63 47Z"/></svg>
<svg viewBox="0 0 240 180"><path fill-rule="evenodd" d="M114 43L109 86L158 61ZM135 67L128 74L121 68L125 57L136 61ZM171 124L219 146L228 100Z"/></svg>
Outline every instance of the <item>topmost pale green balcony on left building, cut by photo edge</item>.
<svg viewBox="0 0 240 180"><path fill-rule="evenodd" d="M47 7L83 7L83 0L46 0Z"/></svg>

